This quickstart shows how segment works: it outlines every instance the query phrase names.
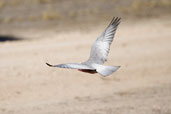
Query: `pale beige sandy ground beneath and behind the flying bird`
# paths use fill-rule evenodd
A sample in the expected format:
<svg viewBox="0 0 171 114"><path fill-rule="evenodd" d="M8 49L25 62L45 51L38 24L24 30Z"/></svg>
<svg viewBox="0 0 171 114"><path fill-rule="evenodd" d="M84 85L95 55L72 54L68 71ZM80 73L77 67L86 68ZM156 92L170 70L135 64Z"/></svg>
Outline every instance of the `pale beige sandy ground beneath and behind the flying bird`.
<svg viewBox="0 0 171 114"><path fill-rule="evenodd" d="M45 65L86 60L107 24L0 42L0 114L171 114L169 19L123 20L106 63L121 68L109 77Z"/></svg>

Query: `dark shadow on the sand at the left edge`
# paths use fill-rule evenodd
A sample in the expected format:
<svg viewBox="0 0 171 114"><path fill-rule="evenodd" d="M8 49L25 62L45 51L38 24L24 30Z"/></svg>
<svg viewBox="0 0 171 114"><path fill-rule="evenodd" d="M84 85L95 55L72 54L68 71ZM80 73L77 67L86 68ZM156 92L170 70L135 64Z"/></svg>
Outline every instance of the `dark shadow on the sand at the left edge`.
<svg viewBox="0 0 171 114"><path fill-rule="evenodd" d="M22 38L18 38L15 36L10 35L0 35L0 42L6 42L6 41L20 41L23 40Z"/></svg>

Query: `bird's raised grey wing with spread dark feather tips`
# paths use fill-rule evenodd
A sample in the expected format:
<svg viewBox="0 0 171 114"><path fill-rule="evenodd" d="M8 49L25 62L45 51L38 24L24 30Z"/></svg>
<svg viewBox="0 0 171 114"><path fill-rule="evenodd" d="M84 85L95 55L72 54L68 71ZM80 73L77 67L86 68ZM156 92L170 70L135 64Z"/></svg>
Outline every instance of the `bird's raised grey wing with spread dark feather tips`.
<svg viewBox="0 0 171 114"><path fill-rule="evenodd" d="M110 45L113 41L116 29L120 24L120 19L121 18L114 17L101 36L94 42L91 47L88 63L104 64L104 62L107 61Z"/></svg>

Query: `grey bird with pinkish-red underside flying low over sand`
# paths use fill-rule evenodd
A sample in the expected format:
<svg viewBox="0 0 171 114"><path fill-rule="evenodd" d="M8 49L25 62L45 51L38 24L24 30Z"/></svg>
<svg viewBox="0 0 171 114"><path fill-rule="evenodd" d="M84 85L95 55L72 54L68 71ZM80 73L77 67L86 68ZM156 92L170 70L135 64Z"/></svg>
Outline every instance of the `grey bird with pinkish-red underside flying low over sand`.
<svg viewBox="0 0 171 114"><path fill-rule="evenodd" d="M96 39L93 43L90 51L89 59L82 63L67 63L51 65L46 63L50 67L78 69L81 72L86 73L99 73L106 77L118 70L120 66L105 66L103 65L107 61L110 45L113 41L116 29L120 24L121 18L113 17L112 21L105 29L105 31Z"/></svg>

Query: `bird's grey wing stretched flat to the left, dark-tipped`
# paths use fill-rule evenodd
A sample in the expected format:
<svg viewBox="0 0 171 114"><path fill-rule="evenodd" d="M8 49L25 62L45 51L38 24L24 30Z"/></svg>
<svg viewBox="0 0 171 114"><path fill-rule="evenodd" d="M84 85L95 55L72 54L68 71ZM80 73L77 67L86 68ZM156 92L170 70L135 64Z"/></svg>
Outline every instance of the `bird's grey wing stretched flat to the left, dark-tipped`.
<svg viewBox="0 0 171 114"><path fill-rule="evenodd" d="M59 65L51 65L49 63L46 63L46 64L50 67L95 70L87 65L83 65L83 64L79 64L79 63L68 63L68 64L59 64Z"/></svg>

